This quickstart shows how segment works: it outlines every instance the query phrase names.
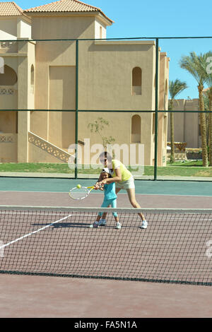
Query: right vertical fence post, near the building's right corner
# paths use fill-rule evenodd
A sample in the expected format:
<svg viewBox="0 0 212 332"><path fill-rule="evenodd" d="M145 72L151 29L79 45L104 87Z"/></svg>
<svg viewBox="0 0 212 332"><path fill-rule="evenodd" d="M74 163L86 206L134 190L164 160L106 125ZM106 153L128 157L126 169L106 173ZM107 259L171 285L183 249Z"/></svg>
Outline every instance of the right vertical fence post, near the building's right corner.
<svg viewBox="0 0 212 332"><path fill-rule="evenodd" d="M157 180L158 171L158 60L159 60L159 39L156 38L155 47L155 162L154 181Z"/></svg>

